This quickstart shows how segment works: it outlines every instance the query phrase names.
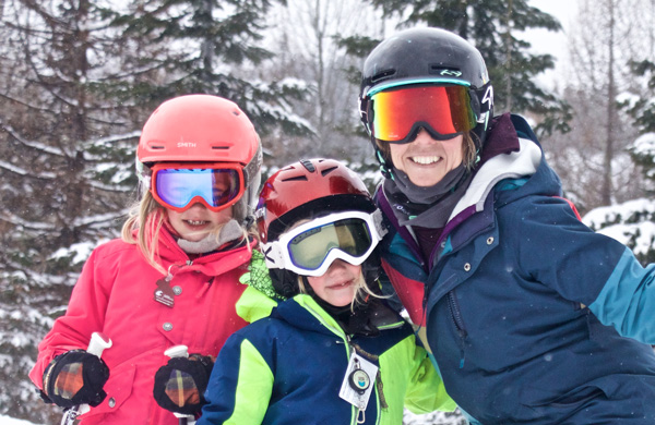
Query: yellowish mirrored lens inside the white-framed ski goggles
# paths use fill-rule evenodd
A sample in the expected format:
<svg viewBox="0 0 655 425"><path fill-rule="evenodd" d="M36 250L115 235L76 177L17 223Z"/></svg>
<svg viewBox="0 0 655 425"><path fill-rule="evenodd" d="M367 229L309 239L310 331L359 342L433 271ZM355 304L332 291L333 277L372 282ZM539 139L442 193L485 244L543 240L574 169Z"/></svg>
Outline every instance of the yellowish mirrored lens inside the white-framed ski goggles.
<svg viewBox="0 0 655 425"><path fill-rule="evenodd" d="M367 222L352 218L307 230L289 242L288 250L291 262L297 267L315 270L332 250L360 257L367 253L371 243Z"/></svg>

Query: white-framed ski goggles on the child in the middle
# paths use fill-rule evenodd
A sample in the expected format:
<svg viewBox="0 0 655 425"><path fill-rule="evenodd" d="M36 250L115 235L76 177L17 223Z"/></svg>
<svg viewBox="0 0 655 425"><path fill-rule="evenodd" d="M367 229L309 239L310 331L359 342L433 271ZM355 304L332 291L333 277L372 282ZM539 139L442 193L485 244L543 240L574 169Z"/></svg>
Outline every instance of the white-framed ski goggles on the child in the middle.
<svg viewBox="0 0 655 425"><path fill-rule="evenodd" d="M337 258L360 265L385 233L380 210L336 212L286 231L277 241L262 244L262 251L269 268L315 277Z"/></svg>

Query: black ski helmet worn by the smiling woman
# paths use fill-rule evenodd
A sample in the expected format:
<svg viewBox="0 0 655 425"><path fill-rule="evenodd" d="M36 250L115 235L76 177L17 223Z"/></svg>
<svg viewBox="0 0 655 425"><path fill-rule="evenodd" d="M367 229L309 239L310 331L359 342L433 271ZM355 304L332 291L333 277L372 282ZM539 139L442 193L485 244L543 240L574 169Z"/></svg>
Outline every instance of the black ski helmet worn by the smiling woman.
<svg viewBox="0 0 655 425"><path fill-rule="evenodd" d="M485 60L473 45L456 34L429 27L405 29L380 42L364 63L359 90L359 113L369 134L370 95L410 84L467 86L477 117L473 139L478 150L483 147L493 113L493 88ZM374 138L371 142L382 171L389 173Z"/></svg>

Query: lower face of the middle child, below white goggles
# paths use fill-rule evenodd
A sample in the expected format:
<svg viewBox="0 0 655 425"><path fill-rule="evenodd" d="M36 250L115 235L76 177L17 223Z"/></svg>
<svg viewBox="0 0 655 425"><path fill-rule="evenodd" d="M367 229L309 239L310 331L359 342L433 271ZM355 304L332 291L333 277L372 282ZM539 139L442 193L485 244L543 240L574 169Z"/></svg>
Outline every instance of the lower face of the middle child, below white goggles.
<svg viewBox="0 0 655 425"><path fill-rule="evenodd" d="M315 294L336 307L353 302L359 279L361 279L361 266L353 266L342 259L335 259L325 275L307 277Z"/></svg>

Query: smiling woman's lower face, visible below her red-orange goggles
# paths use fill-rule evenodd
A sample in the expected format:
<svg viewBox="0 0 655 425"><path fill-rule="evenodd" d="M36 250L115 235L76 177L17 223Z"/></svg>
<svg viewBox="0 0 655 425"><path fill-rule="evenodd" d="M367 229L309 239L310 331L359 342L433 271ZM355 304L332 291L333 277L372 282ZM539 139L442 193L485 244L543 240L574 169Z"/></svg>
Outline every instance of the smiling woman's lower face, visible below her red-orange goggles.
<svg viewBox="0 0 655 425"><path fill-rule="evenodd" d="M436 141L421 129L414 142L389 144L391 160L396 169L407 174L412 183L421 187L433 186L462 163L463 141L462 135Z"/></svg>

